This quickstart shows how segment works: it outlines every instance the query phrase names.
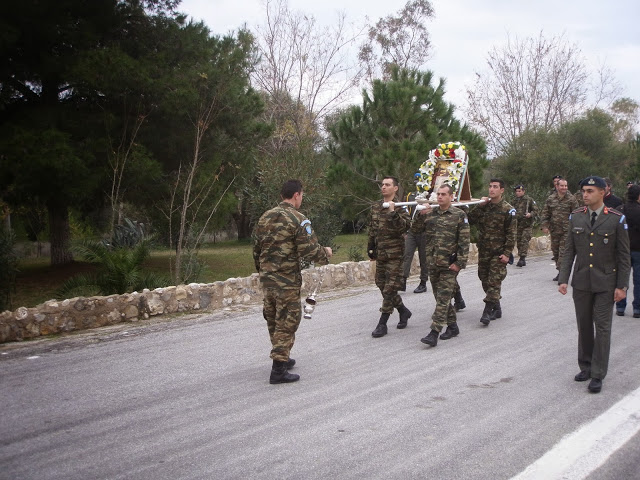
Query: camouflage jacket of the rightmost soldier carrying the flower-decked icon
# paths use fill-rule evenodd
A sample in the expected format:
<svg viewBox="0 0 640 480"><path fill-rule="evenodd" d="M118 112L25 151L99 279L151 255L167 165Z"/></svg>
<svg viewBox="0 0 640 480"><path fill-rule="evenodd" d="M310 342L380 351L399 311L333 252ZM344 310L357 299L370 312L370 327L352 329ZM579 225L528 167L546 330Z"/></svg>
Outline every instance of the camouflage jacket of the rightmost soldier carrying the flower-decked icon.
<svg viewBox="0 0 640 480"><path fill-rule="evenodd" d="M504 200L477 205L469 222L478 227L478 250L492 255L511 255L516 244L516 209Z"/></svg>

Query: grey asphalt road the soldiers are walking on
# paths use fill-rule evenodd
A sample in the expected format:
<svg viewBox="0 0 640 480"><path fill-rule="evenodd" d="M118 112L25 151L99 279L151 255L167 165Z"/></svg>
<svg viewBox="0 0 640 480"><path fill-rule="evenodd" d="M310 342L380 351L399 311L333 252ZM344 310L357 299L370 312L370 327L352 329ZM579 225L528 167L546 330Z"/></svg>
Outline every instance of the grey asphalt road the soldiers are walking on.
<svg viewBox="0 0 640 480"><path fill-rule="evenodd" d="M640 388L630 315L614 317L602 393L573 381L573 301L554 275L549 257L509 267L503 318L484 327L471 266L461 334L435 348L415 278L408 328L395 314L379 339L373 285L321 293L288 385L268 383L257 306L0 346L0 478L512 478ZM588 474L638 472L636 433Z"/></svg>

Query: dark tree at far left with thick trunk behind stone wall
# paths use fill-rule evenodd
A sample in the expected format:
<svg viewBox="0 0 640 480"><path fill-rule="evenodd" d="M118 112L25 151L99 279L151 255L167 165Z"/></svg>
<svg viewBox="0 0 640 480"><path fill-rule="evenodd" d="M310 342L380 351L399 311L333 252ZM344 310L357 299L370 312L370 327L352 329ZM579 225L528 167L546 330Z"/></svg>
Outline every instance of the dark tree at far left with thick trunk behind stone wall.
<svg viewBox="0 0 640 480"><path fill-rule="evenodd" d="M79 88L77 69L91 52L109 45L117 32L135 28L147 12L170 13L175 3L2 3L0 187L14 203L38 197L46 205L54 265L72 260L69 207L93 200L104 172L97 158L96 106ZM25 172L31 175L27 178Z"/></svg>

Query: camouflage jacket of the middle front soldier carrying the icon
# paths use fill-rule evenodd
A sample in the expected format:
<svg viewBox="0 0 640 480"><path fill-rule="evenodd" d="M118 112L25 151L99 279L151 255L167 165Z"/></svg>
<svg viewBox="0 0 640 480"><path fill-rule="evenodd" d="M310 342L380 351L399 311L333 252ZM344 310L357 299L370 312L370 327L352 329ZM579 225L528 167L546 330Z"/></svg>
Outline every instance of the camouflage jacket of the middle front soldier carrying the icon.
<svg viewBox="0 0 640 480"><path fill-rule="evenodd" d="M411 225L413 233L425 233L429 267L449 268L455 263L465 268L469 257L470 229L465 213L456 207L441 210L435 207L431 213L416 215Z"/></svg>

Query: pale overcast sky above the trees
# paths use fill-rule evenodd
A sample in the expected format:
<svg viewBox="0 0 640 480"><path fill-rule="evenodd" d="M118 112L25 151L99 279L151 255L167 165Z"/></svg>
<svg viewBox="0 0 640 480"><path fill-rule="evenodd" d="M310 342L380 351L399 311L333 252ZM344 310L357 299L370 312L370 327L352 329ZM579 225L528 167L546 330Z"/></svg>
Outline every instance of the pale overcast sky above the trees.
<svg viewBox="0 0 640 480"><path fill-rule="evenodd" d="M354 26L395 15L406 0L289 0L292 10L319 24L344 12ZM564 35L576 44L590 69L606 65L623 87L622 96L640 103L640 1L638 0L431 0L428 22L432 57L425 69L446 80L445 98L465 105L465 87L475 72L487 71L487 53L507 38ZM263 23L263 0L182 0L179 11L202 20L215 34ZM359 102L358 102L359 103Z"/></svg>

